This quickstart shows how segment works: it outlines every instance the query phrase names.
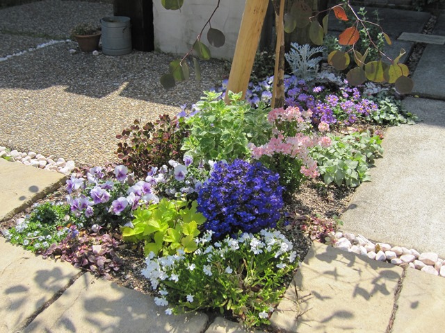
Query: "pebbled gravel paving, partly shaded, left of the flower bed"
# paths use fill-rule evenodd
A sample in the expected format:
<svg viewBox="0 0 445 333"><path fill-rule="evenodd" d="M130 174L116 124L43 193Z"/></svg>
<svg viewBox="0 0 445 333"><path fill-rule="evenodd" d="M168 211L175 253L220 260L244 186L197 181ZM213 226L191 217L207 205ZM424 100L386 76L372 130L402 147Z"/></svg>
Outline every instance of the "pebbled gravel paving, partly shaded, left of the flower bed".
<svg viewBox="0 0 445 333"><path fill-rule="evenodd" d="M42 43L41 37L22 32L57 35L84 14L94 19L111 12L110 4L55 0L0 10L0 29L15 22L8 30L19 33L5 33L0 50L17 52ZM56 155L78 166L116 162L115 135L124 127L134 119L177 114L179 105L198 101L223 73L223 62L202 62L202 80L191 74L191 80L166 91L159 78L174 59L170 55L92 56L70 49L78 49L77 44L53 44L0 62L0 146Z"/></svg>

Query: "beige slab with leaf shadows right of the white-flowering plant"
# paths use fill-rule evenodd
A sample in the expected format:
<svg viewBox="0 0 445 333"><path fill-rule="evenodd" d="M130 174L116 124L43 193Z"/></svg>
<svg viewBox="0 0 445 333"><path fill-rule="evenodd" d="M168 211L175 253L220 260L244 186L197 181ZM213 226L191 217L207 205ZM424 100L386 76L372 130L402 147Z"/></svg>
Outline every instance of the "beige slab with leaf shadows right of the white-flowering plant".
<svg viewBox="0 0 445 333"><path fill-rule="evenodd" d="M284 332L386 332L402 273L314 243L271 323Z"/></svg>

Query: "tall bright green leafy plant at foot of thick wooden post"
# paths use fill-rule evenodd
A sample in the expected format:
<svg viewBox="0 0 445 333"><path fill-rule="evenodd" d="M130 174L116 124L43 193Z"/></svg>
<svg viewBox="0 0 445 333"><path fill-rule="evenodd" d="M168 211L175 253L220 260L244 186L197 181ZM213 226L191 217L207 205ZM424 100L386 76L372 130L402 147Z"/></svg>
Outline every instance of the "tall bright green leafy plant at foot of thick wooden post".
<svg viewBox="0 0 445 333"><path fill-rule="evenodd" d="M241 100L241 94L229 92L230 104L218 99L221 93L204 94L196 104L198 112L186 119L191 134L181 149L197 162L248 157L248 143L259 142L265 137L265 130L270 129L268 110L260 108L251 112L249 103Z"/></svg>

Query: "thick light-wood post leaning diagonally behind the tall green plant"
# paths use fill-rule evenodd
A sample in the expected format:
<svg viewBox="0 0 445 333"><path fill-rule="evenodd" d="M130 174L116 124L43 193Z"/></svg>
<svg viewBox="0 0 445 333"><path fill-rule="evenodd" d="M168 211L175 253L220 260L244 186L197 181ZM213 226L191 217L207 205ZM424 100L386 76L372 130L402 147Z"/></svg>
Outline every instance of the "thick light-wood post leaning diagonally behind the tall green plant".
<svg viewBox="0 0 445 333"><path fill-rule="evenodd" d="M245 97L245 91L248 89L268 3L269 0L245 1L232 69L230 69L229 83L227 83L227 92L243 92L243 98ZM229 94L225 95L225 102L229 103Z"/></svg>

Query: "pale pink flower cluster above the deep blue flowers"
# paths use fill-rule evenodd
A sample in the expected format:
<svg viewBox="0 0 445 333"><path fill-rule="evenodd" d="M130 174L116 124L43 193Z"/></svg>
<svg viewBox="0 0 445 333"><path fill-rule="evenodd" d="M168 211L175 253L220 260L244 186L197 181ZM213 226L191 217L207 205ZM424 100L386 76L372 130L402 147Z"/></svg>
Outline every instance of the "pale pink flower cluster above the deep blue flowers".
<svg viewBox="0 0 445 333"><path fill-rule="evenodd" d="M300 112L298 108L283 108L274 109L268 114L268 121L277 121L281 123L282 121L293 122L297 121L298 124L306 123L307 119L310 119L312 112L308 110L307 112ZM327 125L327 124L326 124ZM298 126L298 129L300 126ZM326 130L326 126L321 126L323 130ZM329 125L327 125L327 130ZM323 146L327 147L331 144L330 137L309 137L308 135L297 133L295 136L286 137L286 133L283 133L277 128L273 128L274 137L270 138L267 144L262 146L251 146L252 157L258 160L261 156L267 155L272 156L274 154L284 154L291 156L293 158L298 158L302 160L302 167L300 172L306 177L316 178L318 176L317 163L309 156L309 148L313 146Z"/></svg>

